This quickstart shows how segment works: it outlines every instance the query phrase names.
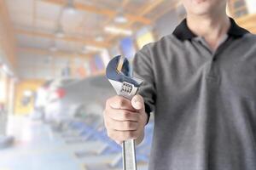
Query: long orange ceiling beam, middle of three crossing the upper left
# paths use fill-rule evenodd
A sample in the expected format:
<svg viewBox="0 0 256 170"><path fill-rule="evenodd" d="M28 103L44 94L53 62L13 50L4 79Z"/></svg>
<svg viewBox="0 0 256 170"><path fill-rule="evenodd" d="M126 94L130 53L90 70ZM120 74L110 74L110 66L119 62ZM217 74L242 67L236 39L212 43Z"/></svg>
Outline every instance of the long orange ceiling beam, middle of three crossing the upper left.
<svg viewBox="0 0 256 170"><path fill-rule="evenodd" d="M26 30L21 30L18 29L15 31L17 34L21 35L26 35L26 36L32 36L32 37L44 37L44 38L49 38L49 39L61 39L67 42L79 42L84 45L91 45L91 46L96 46L98 48L108 48L109 44L107 42L96 42L96 41L91 41L91 40L85 40L83 38L79 37L55 37L54 34L52 33L46 33L42 31L26 31Z"/></svg>

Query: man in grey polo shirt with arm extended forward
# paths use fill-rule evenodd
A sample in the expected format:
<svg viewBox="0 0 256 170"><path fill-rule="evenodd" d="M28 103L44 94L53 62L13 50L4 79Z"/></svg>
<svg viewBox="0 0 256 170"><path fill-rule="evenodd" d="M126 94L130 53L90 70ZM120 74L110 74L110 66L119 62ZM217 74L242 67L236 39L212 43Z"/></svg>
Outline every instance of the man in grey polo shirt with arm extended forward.
<svg viewBox="0 0 256 170"><path fill-rule="evenodd" d="M144 80L131 102L108 99L108 136L143 140L154 111L150 170L256 169L256 37L226 0L183 0L187 18L134 59Z"/></svg>

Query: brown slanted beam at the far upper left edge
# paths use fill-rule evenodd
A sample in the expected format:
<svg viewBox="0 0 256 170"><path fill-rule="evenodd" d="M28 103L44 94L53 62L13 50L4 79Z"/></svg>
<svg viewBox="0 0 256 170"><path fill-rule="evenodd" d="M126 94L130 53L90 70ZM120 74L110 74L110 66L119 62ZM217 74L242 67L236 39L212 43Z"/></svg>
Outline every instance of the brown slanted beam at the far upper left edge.
<svg viewBox="0 0 256 170"><path fill-rule="evenodd" d="M16 48L15 48L14 29L9 19L9 11L4 0L0 0L0 46L15 69Z"/></svg>

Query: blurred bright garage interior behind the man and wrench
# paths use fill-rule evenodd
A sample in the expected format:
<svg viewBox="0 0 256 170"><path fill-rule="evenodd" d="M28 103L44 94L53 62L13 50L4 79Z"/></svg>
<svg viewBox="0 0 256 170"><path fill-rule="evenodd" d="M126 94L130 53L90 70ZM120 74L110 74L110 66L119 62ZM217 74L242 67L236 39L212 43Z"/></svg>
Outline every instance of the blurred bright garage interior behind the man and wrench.
<svg viewBox="0 0 256 170"><path fill-rule="evenodd" d="M228 14L256 33L256 1ZM0 0L0 169L122 169L102 121L105 68L172 34L180 0ZM154 116L137 146L147 169Z"/></svg>

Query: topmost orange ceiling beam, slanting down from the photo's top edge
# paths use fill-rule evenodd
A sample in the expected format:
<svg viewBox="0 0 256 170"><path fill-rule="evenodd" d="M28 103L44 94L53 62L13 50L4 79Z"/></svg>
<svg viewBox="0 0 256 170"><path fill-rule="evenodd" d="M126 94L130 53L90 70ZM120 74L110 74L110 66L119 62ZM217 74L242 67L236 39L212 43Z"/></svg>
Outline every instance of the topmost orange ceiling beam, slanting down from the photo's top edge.
<svg viewBox="0 0 256 170"><path fill-rule="evenodd" d="M47 3L53 3L55 5L60 5L60 6L65 6L66 2L67 2L67 1L63 1L63 0L43 0L43 1L47 2ZM79 10L94 13L94 14L107 15L108 17L113 17L114 15L116 15L116 12L114 10L110 10L107 8L96 8L94 6L87 5L84 3L74 3L74 6L75 6L75 8L77 8ZM143 16L137 16L137 15L133 15L133 14L125 14L125 17L128 20L131 20L132 22L140 22L145 25L151 24L151 20L148 20L147 18L145 18Z"/></svg>

